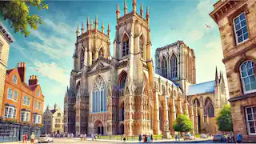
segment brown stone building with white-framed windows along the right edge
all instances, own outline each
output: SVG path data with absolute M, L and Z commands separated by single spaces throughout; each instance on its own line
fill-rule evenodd
M 256 1 L 218 1 L 210 16 L 221 35 L 234 134 L 242 134 L 245 142 L 255 142 Z

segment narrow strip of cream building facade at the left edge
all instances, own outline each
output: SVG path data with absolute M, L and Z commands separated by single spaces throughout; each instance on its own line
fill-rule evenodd
M 2 98 L 6 80 L 6 66 L 9 58 L 10 43 L 14 42 L 8 30 L 0 22 L 0 115 L 2 111 Z

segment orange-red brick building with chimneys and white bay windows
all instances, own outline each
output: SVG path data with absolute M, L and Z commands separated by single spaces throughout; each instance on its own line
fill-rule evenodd
M 2 102 L 2 118 L 13 119 L 31 125 L 42 124 L 44 95 L 37 76 L 30 76 L 26 84 L 26 63 L 6 70 Z

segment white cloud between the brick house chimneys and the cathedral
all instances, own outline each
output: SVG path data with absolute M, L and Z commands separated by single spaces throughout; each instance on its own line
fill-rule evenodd
M 62 67 L 58 67 L 55 62 L 34 62 L 35 67 L 30 67 L 30 69 L 38 69 L 38 73 L 42 74 L 42 77 L 50 78 L 55 82 L 60 83 L 62 86 L 66 86 L 69 82 L 69 73 Z

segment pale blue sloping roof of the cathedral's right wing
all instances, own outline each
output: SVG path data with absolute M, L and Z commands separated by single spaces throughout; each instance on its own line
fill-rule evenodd
M 215 81 L 202 82 L 202 83 L 190 85 L 186 90 L 186 95 L 214 93 L 214 86 L 215 86 Z

